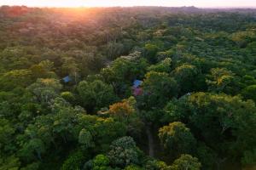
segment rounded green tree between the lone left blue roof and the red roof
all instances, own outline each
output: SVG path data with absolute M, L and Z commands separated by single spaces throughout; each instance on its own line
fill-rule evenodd
M 78 92 L 81 104 L 88 111 L 97 111 L 116 100 L 113 87 L 100 80 L 79 82 Z

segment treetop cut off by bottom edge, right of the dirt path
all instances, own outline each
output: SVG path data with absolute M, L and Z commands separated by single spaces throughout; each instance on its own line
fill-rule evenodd
M 201 163 L 196 157 L 190 155 L 181 155 L 175 160 L 171 167 L 167 167 L 170 170 L 200 170 Z

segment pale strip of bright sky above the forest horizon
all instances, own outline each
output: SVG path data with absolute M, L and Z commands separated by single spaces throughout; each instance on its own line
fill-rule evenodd
M 30 7 L 195 6 L 256 8 L 256 0 L 0 0 L 0 5 Z

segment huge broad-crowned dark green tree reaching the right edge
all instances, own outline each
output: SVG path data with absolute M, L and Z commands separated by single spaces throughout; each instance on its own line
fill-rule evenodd
M 256 140 L 252 130 L 256 107 L 252 100 L 243 101 L 226 94 L 196 93 L 191 94 L 187 102 L 189 127 L 213 150 L 223 155 L 231 152 L 230 155 L 240 159 L 245 150 L 252 149 Z

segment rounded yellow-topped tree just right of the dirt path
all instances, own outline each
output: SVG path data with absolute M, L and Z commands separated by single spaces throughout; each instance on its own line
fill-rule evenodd
M 159 130 L 161 144 L 172 156 L 193 153 L 196 139 L 182 122 L 172 122 Z

